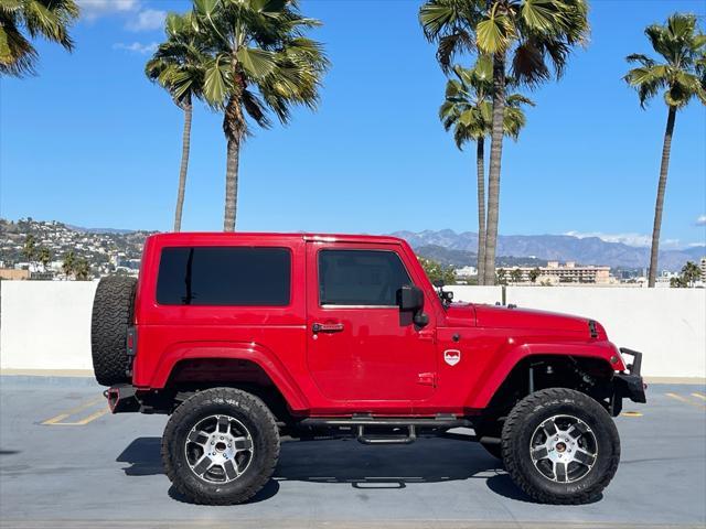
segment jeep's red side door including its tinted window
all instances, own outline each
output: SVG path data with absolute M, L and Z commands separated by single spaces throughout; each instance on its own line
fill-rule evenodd
M 307 244 L 307 355 L 331 400 L 425 400 L 436 380 L 435 322 L 416 327 L 397 290 L 414 283 L 389 245 Z

